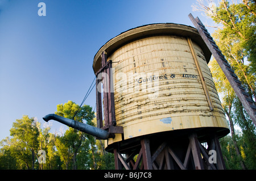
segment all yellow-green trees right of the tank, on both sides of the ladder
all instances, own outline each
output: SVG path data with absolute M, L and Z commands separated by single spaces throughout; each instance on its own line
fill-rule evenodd
M 212 35 L 214 41 L 255 101 L 255 1 L 231 3 L 221 0 L 216 5 L 212 1 L 197 0 L 193 9 L 205 12 L 216 23 L 217 30 Z M 255 125 L 214 58 L 209 66 L 230 125 L 231 135 L 221 140 L 226 166 L 228 169 L 256 169 Z M 236 126 L 240 129 L 236 130 Z

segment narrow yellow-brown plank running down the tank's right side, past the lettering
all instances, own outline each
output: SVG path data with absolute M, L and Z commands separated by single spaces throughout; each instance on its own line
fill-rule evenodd
M 202 71 L 201 71 L 199 62 L 198 62 L 198 60 L 197 60 L 196 52 L 195 52 L 195 49 L 194 49 L 194 47 L 193 47 L 193 43 L 192 43 L 192 41 L 191 41 L 191 39 L 190 39 L 189 37 L 187 38 L 187 41 L 188 41 L 188 45 L 189 45 L 189 48 L 190 48 L 191 53 L 192 53 L 192 56 L 193 56 L 193 60 L 195 61 L 195 64 L 196 64 L 196 69 L 197 69 L 197 71 L 198 71 L 198 73 L 199 73 L 199 77 L 200 77 L 200 79 L 201 79 L 201 83 L 202 83 L 202 85 L 203 85 L 204 93 L 205 93 L 205 96 L 206 96 L 206 98 L 207 98 L 207 102 L 208 102 L 208 104 L 209 104 L 209 108 L 210 108 L 211 111 L 213 111 L 212 99 L 210 99 L 209 91 L 208 91 L 207 85 L 206 85 L 206 83 L 205 83 L 205 81 L 204 81 L 203 73 L 202 73 Z

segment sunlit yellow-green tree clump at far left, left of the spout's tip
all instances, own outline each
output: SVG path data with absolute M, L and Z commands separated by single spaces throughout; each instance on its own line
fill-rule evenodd
M 28 116 L 16 120 L 11 136 L 0 142 L 0 169 L 59 169 L 60 158 L 49 130 Z M 39 150 L 46 151 L 46 163 L 39 163 Z

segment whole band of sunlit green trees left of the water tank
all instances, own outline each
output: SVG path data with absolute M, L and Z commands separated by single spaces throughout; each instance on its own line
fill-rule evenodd
M 92 107 L 79 109 L 71 100 L 57 105 L 55 113 L 93 126 L 96 123 Z M 17 119 L 10 137 L 0 142 L 0 169 L 114 169 L 113 154 L 105 151 L 103 141 L 73 128 L 62 135 L 50 129 L 48 124 L 42 129 L 33 117 Z M 46 153 L 45 163 L 39 160 L 39 150 Z

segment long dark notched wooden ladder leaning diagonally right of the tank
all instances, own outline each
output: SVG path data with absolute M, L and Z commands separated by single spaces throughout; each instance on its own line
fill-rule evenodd
M 243 107 L 245 108 L 254 125 L 256 126 L 256 106 L 253 99 L 251 99 L 245 88 L 241 85 L 241 81 L 238 80 L 238 77 L 234 73 L 234 70 L 231 68 L 224 55 L 221 53 L 221 50 L 216 45 L 212 36 L 210 36 L 210 33 L 207 31 L 201 20 L 198 17 L 196 17 L 195 19 L 192 14 L 189 14 L 188 16 L 196 27 L 200 36 L 203 38 L 205 44 L 207 44 L 210 52 L 212 52 L 214 58 L 218 62 L 218 65 L 220 65 L 221 70 L 226 75 L 226 78 L 228 78 L 230 85 L 233 87 Z

